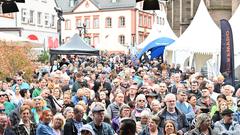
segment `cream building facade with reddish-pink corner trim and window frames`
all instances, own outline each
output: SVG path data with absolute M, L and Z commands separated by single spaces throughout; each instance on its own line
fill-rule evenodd
M 66 41 L 79 33 L 92 46 L 104 45 L 110 38 L 123 46 L 140 44 L 149 35 L 156 20 L 153 11 L 142 10 L 143 2 L 69 0 L 63 3 L 57 0 L 57 3 L 64 11 L 62 39 Z

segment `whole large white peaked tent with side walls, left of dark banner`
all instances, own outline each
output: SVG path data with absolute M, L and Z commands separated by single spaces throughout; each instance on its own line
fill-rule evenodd
M 221 33 L 201 0 L 197 12 L 186 31 L 165 49 L 165 59 L 181 66 L 194 66 L 200 71 L 206 61 L 215 58 L 221 47 Z M 171 55 L 171 56 L 169 56 Z M 218 65 L 218 60 L 215 60 Z M 214 67 L 218 71 L 218 66 Z

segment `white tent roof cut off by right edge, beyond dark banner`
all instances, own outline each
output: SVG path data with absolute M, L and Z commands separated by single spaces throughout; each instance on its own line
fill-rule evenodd
M 229 20 L 229 23 L 232 27 L 232 33 L 233 33 L 233 44 L 234 44 L 234 51 L 235 53 L 240 53 L 240 5 L 238 6 L 237 10 Z

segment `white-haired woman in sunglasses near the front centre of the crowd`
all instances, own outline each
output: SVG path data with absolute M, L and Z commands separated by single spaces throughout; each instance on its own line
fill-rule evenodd
M 139 94 L 136 97 L 136 105 L 135 109 L 132 111 L 132 118 L 136 121 L 140 121 L 141 119 L 141 112 L 143 110 L 148 110 L 150 112 L 150 109 L 147 108 L 147 100 L 144 94 Z

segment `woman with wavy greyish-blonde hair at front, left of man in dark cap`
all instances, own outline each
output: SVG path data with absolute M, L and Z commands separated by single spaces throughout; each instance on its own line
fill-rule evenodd
M 210 115 L 207 113 L 199 114 L 195 128 L 188 132 L 187 135 L 213 135 Z

